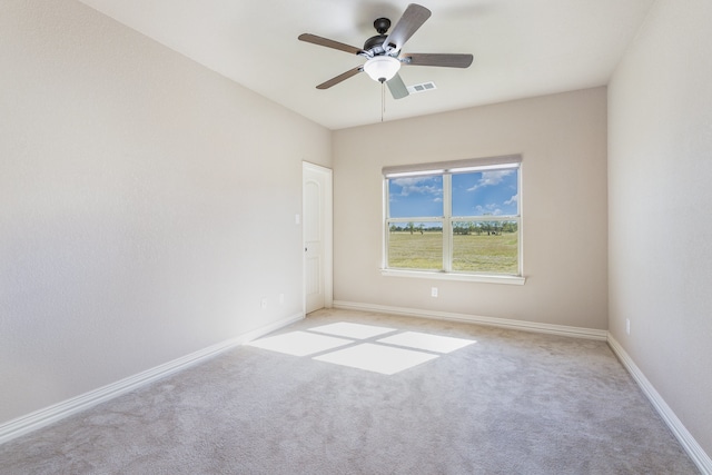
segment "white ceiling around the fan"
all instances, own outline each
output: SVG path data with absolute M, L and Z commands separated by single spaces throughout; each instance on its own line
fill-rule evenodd
M 119 22 L 332 130 L 379 122 L 382 86 L 344 51 L 298 41 L 314 33 L 355 47 L 396 24 L 405 0 L 80 0 Z M 467 69 L 404 66 L 407 86 L 383 120 L 606 85 L 654 0 L 418 0 L 433 14 L 404 52 L 472 53 Z M 392 27 L 393 29 L 393 27 Z

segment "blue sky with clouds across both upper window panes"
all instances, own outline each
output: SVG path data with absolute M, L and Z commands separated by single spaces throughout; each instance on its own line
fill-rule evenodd
M 453 216 L 517 214 L 516 169 L 452 176 Z M 393 178 L 388 184 L 389 217 L 442 217 L 443 177 Z

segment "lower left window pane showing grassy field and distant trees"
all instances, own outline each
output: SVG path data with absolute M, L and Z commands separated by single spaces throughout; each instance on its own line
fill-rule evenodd
M 393 222 L 388 232 L 388 267 L 442 270 L 441 222 Z

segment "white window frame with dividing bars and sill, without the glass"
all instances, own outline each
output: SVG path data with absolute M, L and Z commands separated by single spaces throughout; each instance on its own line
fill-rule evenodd
M 467 172 L 482 172 L 503 169 L 517 170 L 517 214 L 515 216 L 453 216 L 452 215 L 452 177 L 453 175 Z M 415 277 L 442 280 L 465 280 L 493 284 L 523 285 L 523 229 L 522 229 L 522 169 L 523 160 L 520 155 L 488 157 L 468 160 L 445 162 L 418 164 L 409 166 L 396 166 L 383 168 L 383 260 L 380 273 L 384 276 Z M 439 176 L 443 179 L 443 216 L 389 218 L 389 180 L 405 177 L 432 177 Z M 517 224 L 517 274 L 473 273 L 453 270 L 453 224 L 476 221 L 515 221 Z M 390 225 L 399 222 L 438 222 L 443 228 L 443 264 L 437 270 L 389 268 L 388 250 L 390 238 Z

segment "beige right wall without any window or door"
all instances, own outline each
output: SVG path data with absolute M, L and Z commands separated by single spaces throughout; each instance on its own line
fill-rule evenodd
M 609 98 L 610 330 L 708 454 L 711 58 L 712 2 L 660 0 Z

